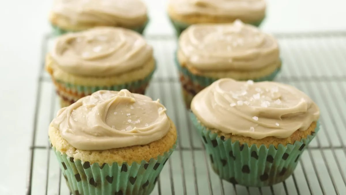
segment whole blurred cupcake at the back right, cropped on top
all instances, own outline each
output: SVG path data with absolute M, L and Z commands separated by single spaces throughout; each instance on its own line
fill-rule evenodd
M 265 17 L 264 0 L 170 0 L 168 15 L 177 35 L 192 24 L 231 23 L 236 19 L 259 26 Z

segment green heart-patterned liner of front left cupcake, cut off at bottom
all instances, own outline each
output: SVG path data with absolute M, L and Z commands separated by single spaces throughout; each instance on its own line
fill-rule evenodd
M 98 164 L 82 162 L 60 153 L 53 146 L 67 186 L 74 195 L 148 195 L 174 151 L 176 144 L 163 155 L 140 164 L 133 162 Z

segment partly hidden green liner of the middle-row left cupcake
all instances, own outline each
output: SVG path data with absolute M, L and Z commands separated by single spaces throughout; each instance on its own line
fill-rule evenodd
M 93 92 L 99 91 L 99 90 L 111 90 L 111 91 L 120 91 L 122 89 L 128 89 L 129 91 L 133 92 L 136 91 L 136 89 L 143 88 L 143 86 L 147 86 L 149 84 L 149 81 L 153 77 L 153 74 L 155 72 L 155 69 L 145 78 L 136 80 L 129 83 L 124 83 L 121 85 L 110 85 L 110 86 L 84 86 L 84 85 L 75 85 L 73 83 L 65 83 L 60 80 L 55 80 L 55 82 L 62 86 L 66 91 L 76 93 L 76 94 L 91 94 Z M 53 78 L 54 79 L 54 78 Z

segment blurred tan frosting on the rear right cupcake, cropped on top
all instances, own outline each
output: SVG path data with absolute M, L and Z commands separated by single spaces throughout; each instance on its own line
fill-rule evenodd
M 170 0 L 169 6 L 181 15 L 263 18 L 264 0 Z

